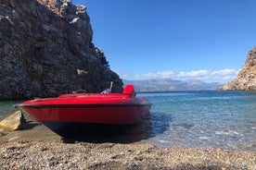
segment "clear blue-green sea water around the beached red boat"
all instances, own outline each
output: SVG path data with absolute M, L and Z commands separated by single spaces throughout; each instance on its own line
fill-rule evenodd
M 143 123 L 147 125 L 136 126 L 130 133 L 147 136 L 148 142 L 160 148 L 178 145 L 256 151 L 256 92 L 171 91 L 137 95 L 145 96 L 153 105 L 149 120 Z M 17 102 L 0 103 L 0 119 L 14 110 L 14 103 Z

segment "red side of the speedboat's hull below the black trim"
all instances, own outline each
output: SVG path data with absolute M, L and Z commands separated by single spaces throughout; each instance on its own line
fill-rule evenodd
M 134 124 L 149 114 L 150 104 L 52 104 L 24 105 L 36 121 L 96 124 Z

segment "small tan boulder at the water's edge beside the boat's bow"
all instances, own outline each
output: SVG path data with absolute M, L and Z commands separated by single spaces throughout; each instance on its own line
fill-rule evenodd
M 0 122 L 0 131 L 14 131 L 26 128 L 26 119 L 20 111 L 7 116 Z

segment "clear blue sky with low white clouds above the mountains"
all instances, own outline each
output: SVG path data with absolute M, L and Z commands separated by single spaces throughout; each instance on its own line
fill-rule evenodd
M 73 0 L 122 79 L 234 79 L 256 46 L 255 0 Z

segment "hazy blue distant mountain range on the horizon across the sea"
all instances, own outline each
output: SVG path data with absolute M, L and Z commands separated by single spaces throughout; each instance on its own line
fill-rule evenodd
M 174 80 L 174 79 L 143 79 L 125 80 L 123 84 L 133 84 L 135 91 L 203 91 L 216 90 L 223 86 L 219 82 L 204 82 L 201 80 Z

